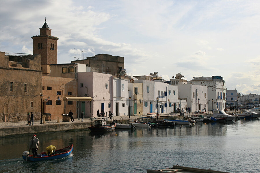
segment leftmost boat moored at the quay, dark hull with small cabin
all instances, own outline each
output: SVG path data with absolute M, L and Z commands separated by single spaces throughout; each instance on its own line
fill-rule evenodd
M 106 124 L 106 117 L 94 117 L 90 118 L 91 122 L 94 119 L 94 125 L 88 127 L 92 132 L 102 132 L 102 131 L 113 131 L 116 128 L 116 122 L 112 122 L 110 124 Z

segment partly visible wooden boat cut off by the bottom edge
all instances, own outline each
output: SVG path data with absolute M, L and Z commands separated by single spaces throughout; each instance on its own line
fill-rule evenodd
M 172 166 L 172 168 L 165 168 L 160 170 L 147 170 L 147 173 L 172 173 L 172 172 L 179 172 L 179 173 L 229 173 L 229 172 L 222 172 L 222 171 L 213 171 L 211 169 L 199 169 L 199 168 L 190 168 L 190 167 L 184 167 L 175 165 Z

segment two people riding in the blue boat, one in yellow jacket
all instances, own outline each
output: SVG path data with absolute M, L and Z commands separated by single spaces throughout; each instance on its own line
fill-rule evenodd
M 37 157 L 38 148 L 39 148 L 39 139 L 36 137 L 36 135 L 33 135 L 33 137 L 31 138 L 30 144 L 29 144 L 29 152 L 31 150 L 31 152 L 33 153 L 33 156 Z M 55 146 L 50 145 L 50 146 L 47 146 L 45 149 L 46 149 L 46 155 L 50 156 L 50 155 L 55 154 L 55 150 L 56 150 Z

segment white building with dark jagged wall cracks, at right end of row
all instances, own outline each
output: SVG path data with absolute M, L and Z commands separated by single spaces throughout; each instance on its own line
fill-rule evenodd
M 190 83 L 208 88 L 208 110 L 226 108 L 226 87 L 221 76 L 194 77 Z M 212 101 L 213 100 L 213 101 Z M 213 106 L 213 108 L 212 108 Z

